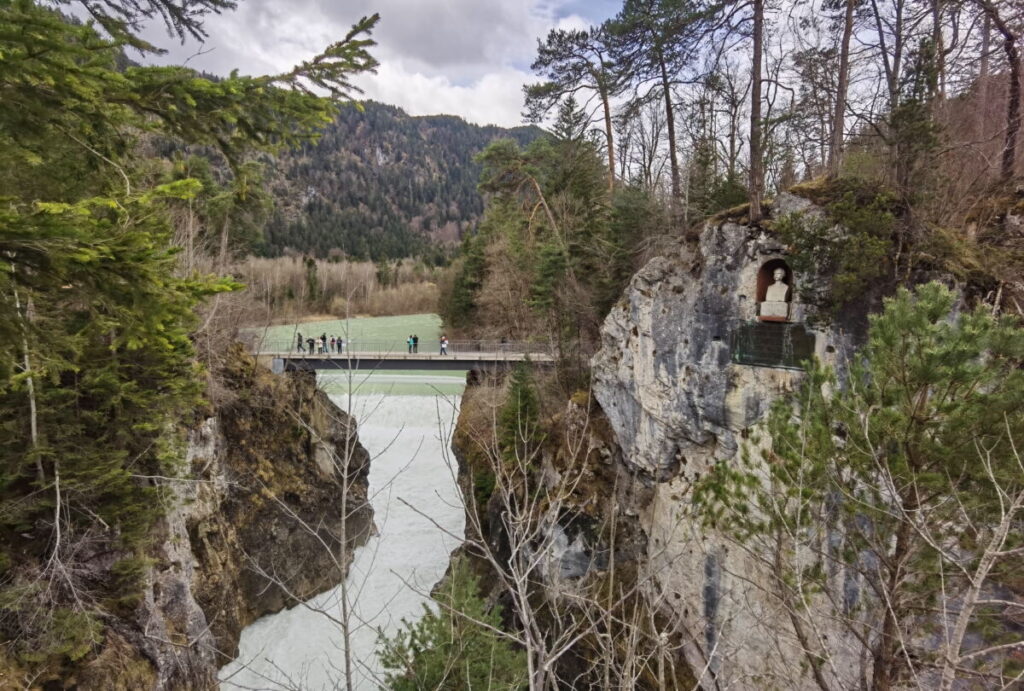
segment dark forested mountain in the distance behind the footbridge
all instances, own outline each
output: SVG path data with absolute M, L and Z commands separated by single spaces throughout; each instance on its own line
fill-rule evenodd
M 378 260 L 457 241 L 483 212 L 473 157 L 495 139 L 526 144 L 540 133 L 412 117 L 374 101 L 344 107 L 318 142 L 279 159 L 263 252 Z

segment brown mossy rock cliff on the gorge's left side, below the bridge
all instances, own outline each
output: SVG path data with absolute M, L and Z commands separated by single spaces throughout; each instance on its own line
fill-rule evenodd
M 341 581 L 373 530 L 354 422 L 311 375 L 229 360 L 220 402 L 187 432 L 142 601 L 80 688 L 216 688 L 241 631 Z

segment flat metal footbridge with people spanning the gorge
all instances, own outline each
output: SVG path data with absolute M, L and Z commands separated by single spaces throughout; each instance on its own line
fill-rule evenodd
M 258 357 L 271 360 L 274 372 L 294 370 L 494 370 L 517 362 L 549 365 L 552 348 L 543 343 L 450 341 L 441 353 L 436 343 L 420 342 L 416 352 L 401 341 L 345 341 L 338 348 L 296 347 L 295 341 L 253 344 Z

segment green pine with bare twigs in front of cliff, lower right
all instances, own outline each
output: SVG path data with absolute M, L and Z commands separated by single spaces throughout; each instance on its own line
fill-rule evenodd
M 871 688 L 916 665 L 995 683 L 1013 648 L 978 652 L 1007 634 L 981 593 L 1024 568 L 1024 330 L 931 283 L 888 299 L 845 364 L 812 365 L 767 438 L 699 483 L 698 511 L 763 560 L 798 637 L 826 611 L 861 640 Z M 824 678 L 840 644 L 811 638 Z

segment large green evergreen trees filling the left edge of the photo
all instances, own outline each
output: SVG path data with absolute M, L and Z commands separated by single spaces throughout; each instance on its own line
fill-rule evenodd
M 315 138 L 336 103 L 310 89 L 344 98 L 375 64 L 368 17 L 283 75 L 126 66 L 126 46 L 152 49 L 143 20 L 197 36 L 232 5 L 87 3 L 100 33 L 0 3 L 0 628 L 4 654 L 43 679 L 137 601 L 164 510 L 155 478 L 178 472 L 178 425 L 201 402 L 195 309 L 239 287 L 179 264 L 173 213 L 197 212 L 191 240 L 229 246 L 260 206 L 252 153 Z M 155 172 L 143 136 L 215 152 L 224 182 L 195 160 Z

